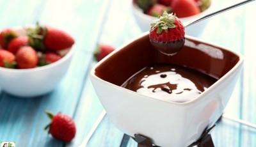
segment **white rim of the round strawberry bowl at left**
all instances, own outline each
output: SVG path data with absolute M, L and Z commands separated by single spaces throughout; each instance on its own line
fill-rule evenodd
M 12 27 L 12 29 L 14 31 L 17 31 L 17 33 L 19 34 L 19 31 L 24 30 L 24 28 L 26 27 L 33 27 L 35 25 L 30 25 L 30 26 L 24 26 L 24 27 Z M 21 35 L 22 36 L 22 35 Z M 49 65 L 44 65 L 44 66 L 38 66 L 35 68 L 26 68 L 26 69 L 19 69 L 19 68 L 4 68 L 4 67 L 0 67 L 0 72 L 35 72 L 38 70 L 45 70 L 47 68 L 51 68 L 52 66 L 58 66 L 61 63 L 63 63 L 64 61 L 66 61 L 68 58 L 70 58 L 70 56 L 72 56 L 74 54 L 74 45 L 72 45 L 72 47 L 69 47 L 67 49 L 63 49 L 63 50 L 68 50 L 67 54 L 65 54 L 61 59 L 59 59 L 58 61 L 51 63 Z M 60 50 L 61 51 L 61 50 Z

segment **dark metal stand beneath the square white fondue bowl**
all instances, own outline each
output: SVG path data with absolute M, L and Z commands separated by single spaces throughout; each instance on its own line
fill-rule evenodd
M 211 128 L 208 128 L 205 130 L 205 132 L 201 135 L 200 139 L 196 141 L 195 143 L 189 145 L 188 147 L 192 146 L 198 146 L 198 147 L 214 147 L 214 143 L 212 141 L 211 137 L 211 130 L 214 128 L 215 125 L 213 125 Z M 134 140 L 138 143 L 138 147 L 157 147 L 156 145 L 152 144 L 150 138 L 145 137 L 140 134 L 134 134 Z

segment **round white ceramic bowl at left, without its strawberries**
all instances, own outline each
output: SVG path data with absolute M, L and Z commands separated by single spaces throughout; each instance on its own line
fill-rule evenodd
M 20 36 L 25 29 L 15 28 Z M 74 48 L 65 49 L 67 54 L 55 63 L 29 69 L 10 69 L 0 67 L 0 88 L 11 95 L 33 98 L 49 93 L 60 83 L 68 70 Z M 65 52 L 63 50 L 63 52 Z

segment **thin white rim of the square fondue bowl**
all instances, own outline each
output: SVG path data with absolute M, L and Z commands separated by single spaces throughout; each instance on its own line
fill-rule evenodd
M 227 79 L 227 77 L 232 74 L 234 72 L 234 70 L 237 69 L 237 66 L 243 66 L 243 62 L 244 62 L 244 58 L 241 54 L 239 54 L 239 52 L 234 52 L 231 49 L 227 49 L 227 47 L 223 47 L 220 45 L 216 45 L 210 42 L 207 42 L 205 40 L 202 40 L 200 38 L 196 38 L 193 36 L 188 36 L 186 35 L 186 38 L 190 38 L 192 40 L 198 41 L 198 42 L 202 42 L 202 43 L 206 43 L 209 45 L 212 45 L 214 47 L 218 47 L 224 50 L 228 50 L 229 52 L 232 52 L 234 54 L 236 54 L 239 57 L 239 61 L 236 63 L 236 65 L 230 69 L 225 75 L 223 75 L 223 77 L 221 77 L 220 79 L 218 79 L 216 82 L 214 82 L 214 84 L 212 84 L 207 90 L 203 91 L 198 97 L 194 98 L 193 100 L 189 100 L 188 102 L 172 102 L 172 101 L 168 101 L 168 100 L 161 100 L 159 98 L 154 98 L 154 97 L 148 97 L 147 95 L 142 95 L 140 93 L 137 93 L 136 91 L 131 91 L 129 89 L 125 89 L 122 88 L 121 86 L 117 86 L 111 82 L 108 81 L 104 81 L 103 79 L 100 79 L 99 77 L 97 77 L 95 75 L 95 69 L 102 64 L 104 61 L 106 61 L 109 57 L 111 57 L 113 54 L 116 54 L 116 52 L 118 52 L 118 50 L 124 49 L 125 46 L 129 45 L 131 42 L 134 42 L 135 40 L 138 40 L 139 38 L 143 37 L 143 36 L 147 36 L 149 33 L 149 31 L 142 33 L 141 35 L 139 35 L 138 37 L 132 39 L 130 42 L 125 43 L 124 45 L 122 45 L 121 47 L 119 47 L 118 49 L 115 49 L 113 52 L 111 52 L 110 54 L 108 54 L 108 56 L 106 56 L 105 58 L 103 58 L 102 60 L 100 60 L 91 70 L 90 72 L 90 76 L 93 77 L 94 79 L 96 79 L 97 81 L 100 82 L 107 82 L 108 84 L 110 84 L 111 86 L 114 86 L 115 88 L 121 89 L 122 91 L 128 91 L 129 93 L 134 93 L 135 95 L 140 95 L 141 97 L 145 97 L 145 98 L 150 98 L 151 100 L 157 100 L 157 101 L 161 101 L 161 102 L 165 102 L 166 104 L 175 104 L 175 105 L 191 105 L 191 104 L 195 104 L 196 102 L 198 102 L 199 100 L 201 100 L 202 98 L 204 98 L 205 95 L 207 95 L 207 93 L 209 93 L 210 91 L 212 91 L 213 89 L 215 89 L 216 87 L 218 87 L 218 85 L 223 82 L 225 79 Z

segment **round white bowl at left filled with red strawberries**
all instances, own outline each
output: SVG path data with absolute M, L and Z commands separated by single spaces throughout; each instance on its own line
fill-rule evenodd
M 68 70 L 74 38 L 53 27 L 3 29 L 0 33 L 0 88 L 31 98 L 52 91 Z

